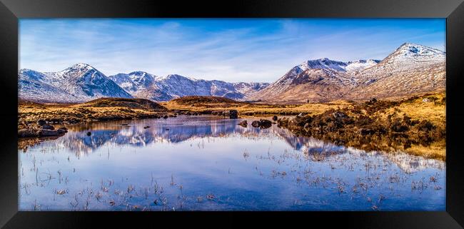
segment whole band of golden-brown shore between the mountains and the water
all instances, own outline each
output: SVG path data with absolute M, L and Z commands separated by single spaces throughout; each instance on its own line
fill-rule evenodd
M 414 96 L 400 101 L 373 99 L 364 103 L 345 101 L 300 106 L 168 102 L 161 103 L 158 110 L 155 110 L 133 104 L 130 104 L 132 107 L 127 104 L 116 105 L 50 106 L 19 103 L 18 130 L 28 128 L 39 131 L 41 125 L 37 124 L 38 121 L 45 121 L 46 125 L 66 126 L 95 121 L 175 118 L 178 115 L 226 117 L 230 111 L 235 110 L 238 116 L 257 120 L 266 116 L 281 116 L 273 121 L 277 121 L 279 127 L 288 128 L 296 136 L 311 136 L 338 146 L 387 153 L 403 151 L 425 158 L 446 159 L 445 93 Z

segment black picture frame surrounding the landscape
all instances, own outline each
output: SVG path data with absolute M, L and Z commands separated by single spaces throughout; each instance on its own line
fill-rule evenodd
M 376 1 L 91 1 L 91 0 L 0 0 L 0 226 L 3 228 L 130 228 L 179 223 L 224 228 L 248 225 L 321 225 L 345 228 L 463 228 L 464 127 L 464 4 L 462 0 Z M 18 211 L 18 155 L 16 138 L 18 19 L 109 18 L 109 17 L 246 17 L 246 18 L 446 18 L 446 211 L 443 212 L 21 212 Z M 179 218 L 182 218 L 179 220 Z M 213 220 L 221 218 L 219 223 Z M 318 223 L 318 224 L 315 224 Z M 322 223 L 322 224 L 320 224 Z

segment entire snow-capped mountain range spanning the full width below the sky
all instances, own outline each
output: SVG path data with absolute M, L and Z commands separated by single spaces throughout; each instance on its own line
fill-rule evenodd
M 21 69 L 19 98 L 74 103 L 101 97 L 169 101 L 182 96 L 221 96 L 234 100 L 302 103 L 408 96 L 445 88 L 445 52 L 405 43 L 383 60 L 308 60 L 273 83 L 228 83 L 143 71 L 105 76 L 77 63 L 63 71 Z

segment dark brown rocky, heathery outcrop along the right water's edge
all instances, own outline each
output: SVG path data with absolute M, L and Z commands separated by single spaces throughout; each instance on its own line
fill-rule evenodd
M 396 112 L 387 113 L 399 104 L 373 99 L 352 108 L 332 109 L 318 115 L 278 118 L 277 123 L 301 136 L 313 136 L 365 151 L 406 150 L 412 145 L 427 147 L 445 139 L 443 126 L 435 126 L 427 120 L 413 120 Z M 252 123 L 253 126 L 258 124 L 257 121 Z

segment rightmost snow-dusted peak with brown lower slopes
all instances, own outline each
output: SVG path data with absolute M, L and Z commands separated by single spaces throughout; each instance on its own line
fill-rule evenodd
M 405 96 L 445 89 L 446 54 L 418 44 L 405 43 L 375 66 L 355 74 L 358 85 L 350 97 Z

